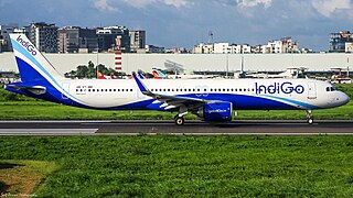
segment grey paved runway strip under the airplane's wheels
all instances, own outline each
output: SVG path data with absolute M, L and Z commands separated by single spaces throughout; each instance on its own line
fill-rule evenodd
M 353 135 L 353 121 L 0 121 L 0 135 Z

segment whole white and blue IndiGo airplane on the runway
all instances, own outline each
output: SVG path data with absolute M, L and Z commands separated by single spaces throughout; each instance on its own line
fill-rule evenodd
M 6 90 L 87 109 L 193 113 L 206 122 L 232 121 L 234 110 L 312 110 L 343 106 L 350 97 L 315 79 L 69 79 L 64 78 L 24 34 L 10 34 L 21 81 Z

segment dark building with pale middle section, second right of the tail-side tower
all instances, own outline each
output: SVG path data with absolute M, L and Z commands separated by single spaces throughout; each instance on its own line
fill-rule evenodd
M 96 30 L 98 47 L 103 52 L 130 52 L 129 30 L 125 26 L 106 26 Z M 145 48 L 145 45 L 143 47 Z

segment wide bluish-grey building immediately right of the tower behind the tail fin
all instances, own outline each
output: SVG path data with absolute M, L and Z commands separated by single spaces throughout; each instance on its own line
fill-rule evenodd
M 92 53 L 98 50 L 96 30 L 65 26 L 58 30 L 60 53 Z

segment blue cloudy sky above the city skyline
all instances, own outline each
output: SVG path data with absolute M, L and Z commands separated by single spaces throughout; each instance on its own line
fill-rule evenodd
M 0 0 L 0 24 L 124 25 L 147 44 L 186 47 L 208 41 L 267 44 L 291 36 L 328 51 L 330 33 L 353 31 L 353 0 Z

